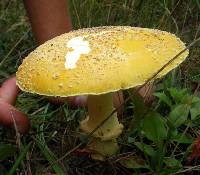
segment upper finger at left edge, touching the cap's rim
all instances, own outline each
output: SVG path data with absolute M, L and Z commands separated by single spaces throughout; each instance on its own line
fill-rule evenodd
M 19 88 L 16 85 L 16 78 L 12 77 L 6 80 L 0 88 L 0 98 L 9 104 L 14 105 Z

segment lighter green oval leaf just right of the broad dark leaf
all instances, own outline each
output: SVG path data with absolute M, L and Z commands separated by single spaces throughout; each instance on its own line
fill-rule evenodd
M 175 126 L 179 127 L 185 123 L 188 118 L 190 106 L 187 104 L 177 105 L 169 114 L 169 121 Z

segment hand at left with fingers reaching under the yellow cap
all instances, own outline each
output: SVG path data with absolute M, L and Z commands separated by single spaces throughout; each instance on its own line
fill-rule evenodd
M 15 101 L 19 93 L 16 85 L 16 78 L 6 80 L 0 87 L 0 125 L 15 128 L 19 133 L 26 133 L 30 124 L 28 118 L 15 107 Z M 52 103 L 63 104 L 68 101 L 71 106 L 85 106 L 86 96 L 66 98 L 52 98 Z

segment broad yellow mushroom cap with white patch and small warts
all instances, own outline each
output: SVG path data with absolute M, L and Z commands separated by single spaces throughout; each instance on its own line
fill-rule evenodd
M 31 52 L 17 71 L 17 84 L 47 96 L 102 94 L 143 84 L 185 48 L 175 35 L 115 26 L 72 31 Z M 188 50 L 158 77 L 179 65 Z

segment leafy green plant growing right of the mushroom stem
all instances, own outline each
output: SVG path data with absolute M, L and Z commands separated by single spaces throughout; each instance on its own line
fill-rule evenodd
M 198 137 L 195 127 L 199 125 L 200 98 L 187 89 L 176 88 L 167 88 L 154 96 L 158 99 L 156 108 L 144 111 L 142 107 L 134 114 L 137 125 L 131 127 L 128 143 L 135 147 L 136 156 L 123 161 L 123 165 L 137 173 L 181 172 L 186 163 L 191 163 L 191 145 Z M 136 98 L 134 107 L 144 106 L 142 98 L 133 94 L 133 100 Z M 199 152 L 194 150 L 192 158 L 198 156 Z

